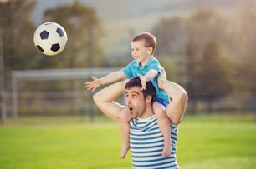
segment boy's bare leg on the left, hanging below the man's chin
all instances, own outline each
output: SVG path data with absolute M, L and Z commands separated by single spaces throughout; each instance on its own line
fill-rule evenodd
M 120 112 L 120 130 L 122 135 L 122 150 L 120 158 L 125 158 L 126 153 L 130 148 L 130 125 L 129 122 L 131 120 L 131 114 L 127 110 L 127 107 Z

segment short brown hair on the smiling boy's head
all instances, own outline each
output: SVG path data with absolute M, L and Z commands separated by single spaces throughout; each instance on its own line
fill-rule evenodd
M 136 35 L 132 38 L 131 42 L 137 42 L 137 41 L 144 41 L 145 47 L 152 47 L 152 53 L 153 55 L 156 51 L 156 37 L 152 35 L 150 32 L 141 32 L 140 34 Z

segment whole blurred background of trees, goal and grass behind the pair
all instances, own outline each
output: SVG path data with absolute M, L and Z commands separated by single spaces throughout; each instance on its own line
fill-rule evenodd
M 67 32 L 58 56 L 34 47 L 43 22 Z M 131 62 L 139 32 L 189 96 L 180 166 L 255 168 L 255 27 L 255 0 L 0 0 L 0 168 L 131 168 L 84 82 Z

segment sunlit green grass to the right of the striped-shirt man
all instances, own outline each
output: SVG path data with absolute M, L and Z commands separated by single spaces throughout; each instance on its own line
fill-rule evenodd
M 255 168 L 256 125 L 252 119 L 242 116 L 187 119 L 179 128 L 178 159 L 182 168 Z

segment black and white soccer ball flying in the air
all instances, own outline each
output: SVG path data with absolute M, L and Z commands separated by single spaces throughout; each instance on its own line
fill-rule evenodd
M 68 40 L 63 27 L 55 22 L 41 24 L 33 34 L 33 42 L 39 52 L 54 56 L 64 50 Z

